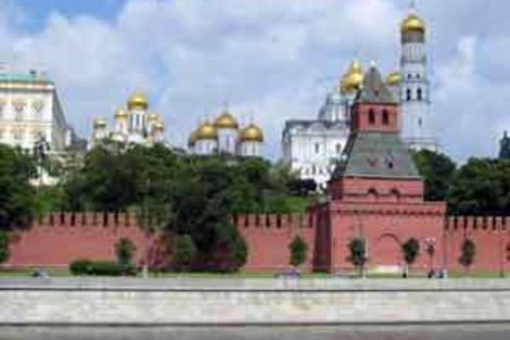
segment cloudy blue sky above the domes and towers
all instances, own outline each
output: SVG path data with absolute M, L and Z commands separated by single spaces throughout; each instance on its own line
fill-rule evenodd
M 226 100 L 280 155 L 285 119 L 313 118 L 357 55 L 398 65 L 406 0 L 4 0 L 0 61 L 41 68 L 82 136 L 133 90 L 184 146 Z M 493 156 L 510 130 L 510 2 L 417 1 L 428 22 L 433 124 L 458 161 Z

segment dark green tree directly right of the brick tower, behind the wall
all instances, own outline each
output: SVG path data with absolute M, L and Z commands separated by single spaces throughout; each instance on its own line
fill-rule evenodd
M 456 164 L 443 153 L 421 150 L 412 154 L 415 164 L 425 182 L 425 200 L 445 201 Z

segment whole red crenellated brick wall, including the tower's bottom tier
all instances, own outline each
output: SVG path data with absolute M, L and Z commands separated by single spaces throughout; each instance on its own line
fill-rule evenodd
M 335 215 L 340 216 L 340 212 Z M 401 269 L 400 243 L 409 236 L 421 241 L 421 254 L 415 269 L 426 272 L 429 266 L 461 272 L 458 259 L 466 238 L 476 244 L 472 272 L 510 270 L 510 217 L 450 216 L 423 211 L 409 217 L 411 224 L 395 225 L 395 216 L 406 216 L 401 207 L 388 204 L 380 212 L 358 212 L 353 225 L 343 236 L 332 239 L 334 226 L 329 225 L 328 211 L 317 207 L 308 214 L 240 215 L 233 222 L 248 247 L 244 272 L 278 273 L 289 270 L 289 244 L 295 236 L 307 243 L 307 262 L 303 270 L 350 270 L 345 260 L 347 243 L 353 235 L 364 235 L 368 244 L 369 267 L 378 272 Z M 357 219 L 357 223 L 354 223 Z M 423 221 L 433 219 L 439 226 L 428 232 Z M 392 225 L 392 227 L 387 227 Z M 385 226 L 379 228 L 379 226 Z M 358 229 L 359 228 L 359 229 Z M 393 230 L 392 230 L 393 229 Z M 404 231 L 405 230 L 405 231 Z M 137 226 L 135 215 L 55 213 L 44 216 L 24 232 L 11 237 L 11 256 L 7 267 L 66 268 L 76 259 L 114 260 L 115 243 L 123 237 L 136 244 L 135 262 L 141 265 L 148 249 L 152 266 L 162 263 L 156 238 L 145 236 Z M 425 253 L 425 243 L 435 241 L 432 259 Z M 335 254 L 333 256 L 333 253 Z M 332 257 L 334 261 L 332 261 Z

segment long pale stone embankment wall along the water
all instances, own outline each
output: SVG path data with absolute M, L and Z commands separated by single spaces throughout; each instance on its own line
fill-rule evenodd
M 507 280 L 1 279 L 0 326 L 510 322 Z

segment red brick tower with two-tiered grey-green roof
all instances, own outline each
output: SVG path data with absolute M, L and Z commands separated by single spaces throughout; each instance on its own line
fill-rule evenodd
M 367 241 L 368 265 L 399 270 L 400 245 L 413 237 L 442 244 L 444 202 L 423 201 L 423 180 L 399 136 L 398 100 L 375 66 L 370 67 L 353 106 L 352 133 L 329 182 L 331 267 L 349 266 L 347 244 Z M 441 254 L 422 255 L 418 266 L 441 265 Z

